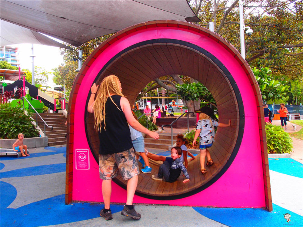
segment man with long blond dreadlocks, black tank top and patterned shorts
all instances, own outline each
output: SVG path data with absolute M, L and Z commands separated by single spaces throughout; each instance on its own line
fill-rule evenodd
M 100 86 L 92 85 L 88 112 L 95 114 L 95 128 L 100 139 L 99 172 L 104 200 L 104 208 L 100 211 L 100 216 L 105 220 L 112 219 L 110 209 L 112 178 L 118 175 L 119 169 L 122 178 L 128 180 L 126 204 L 121 214 L 140 219 L 141 215 L 136 212 L 133 205 L 139 167 L 127 123 L 155 140 L 159 139 L 159 135 L 135 120 L 130 104 L 122 94 L 121 83 L 115 75 L 105 77 Z

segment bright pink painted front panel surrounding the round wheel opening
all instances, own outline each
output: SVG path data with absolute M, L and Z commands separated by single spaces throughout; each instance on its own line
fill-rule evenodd
M 89 89 L 102 67 L 118 52 L 141 41 L 156 38 L 177 38 L 213 54 L 229 70 L 237 83 L 245 110 L 245 130 L 240 149 L 229 169 L 207 189 L 183 199 L 154 200 L 140 196 L 135 203 L 157 203 L 179 206 L 265 207 L 260 136 L 254 92 L 242 67 L 235 58 L 212 39 L 181 28 L 148 28 L 119 39 L 103 51 L 92 63 L 78 90 L 75 109 L 74 149 L 89 149 L 85 139 L 85 101 Z M 78 140 L 77 138 L 83 138 Z M 248 158 L 249 153 L 249 158 Z M 75 153 L 74 153 L 75 154 Z M 75 158 L 75 157 L 74 157 Z M 90 153 L 90 169 L 73 169 L 73 200 L 102 202 L 98 164 Z M 112 183 L 112 202 L 125 202 L 126 190 Z

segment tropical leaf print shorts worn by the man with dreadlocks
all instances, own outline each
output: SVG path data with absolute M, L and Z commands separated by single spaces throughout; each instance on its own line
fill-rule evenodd
M 118 176 L 118 170 L 124 180 L 139 175 L 139 166 L 134 148 L 115 153 L 99 154 L 100 179 L 110 180 Z

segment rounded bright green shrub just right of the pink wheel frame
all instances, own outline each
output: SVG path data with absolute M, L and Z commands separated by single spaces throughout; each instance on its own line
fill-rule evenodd
M 267 153 L 290 153 L 292 140 L 280 126 L 266 124 Z

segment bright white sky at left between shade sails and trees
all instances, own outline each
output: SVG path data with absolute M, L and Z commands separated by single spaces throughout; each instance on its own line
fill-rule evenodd
M 57 40 L 58 41 L 58 40 Z M 21 69 L 32 71 L 32 44 L 15 44 L 18 47 L 19 63 Z M 45 45 L 34 44 L 34 66 L 44 68 L 46 71 L 52 72 L 52 69 L 63 63 L 63 56 L 60 54 L 60 48 Z M 48 75 L 49 87 L 54 87 L 52 80 L 53 74 Z

